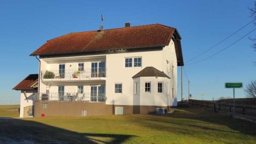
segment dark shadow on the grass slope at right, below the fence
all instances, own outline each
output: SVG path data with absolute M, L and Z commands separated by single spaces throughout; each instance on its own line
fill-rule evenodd
M 136 115 L 129 115 L 129 116 L 132 116 L 138 119 L 149 120 L 152 122 L 160 122 L 159 124 L 166 123 L 166 124 L 180 125 L 185 127 L 194 127 L 194 128 L 202 129 L 205 131 L 211 130 L 216 132 L 228 132 L 230 134 L 241 132 L 243 134 L 256 136 L 256 131 L 255 131 L 256 123 L 248 122 L 245 120 L 239 120 L 239 119 L 233 120 L 233 118 L 230 116 L 219 115 L 211 111 L 205 111 L 204 109 L 191 109 L 191 108 L 181 108 L 181 109 L 183 112 L 178 111 L 177 113 L 171 113 L 166 115 L 152 115 L 152 116 L 145 116 L 145 117 L 136 116 Z M 196 122 L 194 120 L 196 120 Z M 207 124 L 200 124 L 200 122 L 207 122 Z M 207 126 L 209 123 L 214 125 L 225 125 L 229 127 L 231 130 L 222 129 L 221 127 Z M 149 125 L 149 127 L 152 127 L 152 126 L 153 125 Z M 156 127 L 156 129 L 158 128 L 161 129 L 161 127 Z

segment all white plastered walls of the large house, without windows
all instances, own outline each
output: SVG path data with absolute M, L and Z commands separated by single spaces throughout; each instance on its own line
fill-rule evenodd
M 125 58 L 141 58 L 141 67 L 125 67 Z M 40 92 L 45 93 L 49 90 L 50 93 L 58 93 L 58 86 L 65 85 L 65 92 L 77 92 L 77 85 L 84 85 L 84 93 L 90 93 L 90 85 L 93 84 L 106 84 L 106 104 L 116 105 L 145 105 L 145 106 L 177 106 L 177 58 L 175 54 L 175 47 L 171 40 L 170 45 L 163 47 L 159 51 L 133 51 L 128 52 L 125 50 L 109 52 L 103 55 L 90 55 L 90 56 L 76 56 L 67 58 L 41 58 L 40 70 L 57 70 L 59 64 L 65 63 L 66 69 L 78 68 L 78 63 L 84 63 L 84 68 L 91 68 L 91 63 L 95 61 L 106 61 L 106 80 L 95 81 L 49 81 L 43 82 L 42 76 L 40 79 Z M 132 61 L 133 62 L 133 61 Z M 152 99 L 148 99 L 142 90 L 145 86 L 144 79 L 132 79 L 132 76 L 143 70 L 145 67 L 154 67 L 163 71 L 170 79 L 164 78 L 164 95 L 154 93 Z M 172 68 L 173 67 L 173 68 Z M 161 77 L 158 77 L 161 79 Z M 150 81 L 157 81 L 158 79 L 150 79 Z M 140 100 L 134 96 L 134 81 L 140 82 Z M 147 80 L 148 81 L 148 80 Z M 122 93 L 115 93 L 115 83 L 122 83 Z M 168 86 L 165 88 L 165 86 Z M 156 86 L 154 86 L 156 87 Z M 157 87 L 156 87 L 157 88 Z M 173 88 L 173 92 L 172 92 Z M 152 85 L 152 90 L 154 90 Z M 156 89 L 157 90 L 157 89 Z M 173 93 L 173 95 L 172 95 Z M 141 100 L 148 99 L 148 100 Z M 138 102 L 140 101 L 140 102 Z

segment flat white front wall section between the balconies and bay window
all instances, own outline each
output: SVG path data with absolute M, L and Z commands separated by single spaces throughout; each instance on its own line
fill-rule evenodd
M 141 67 L 125 67 L 125 58 L 136 57 L 141 57 Z M 106 96 L 108 99 L 106 104 L 134 105 L 132 76 L 145 67 L 155 67 L 161 70 L 161 63 L 161 51 L 108 54 L 106 56 L 106 66 L 108 67 L 108 79 L 106 80 Z M 115 83 L 122 83 L 122 93 L 114 92 Z

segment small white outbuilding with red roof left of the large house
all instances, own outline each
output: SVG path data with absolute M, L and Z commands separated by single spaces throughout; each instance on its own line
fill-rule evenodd
M 34 115 L 34 102 L 37 96 L 38 74 L 29 74 L 13 90 L 20 90 L 20 118 Z

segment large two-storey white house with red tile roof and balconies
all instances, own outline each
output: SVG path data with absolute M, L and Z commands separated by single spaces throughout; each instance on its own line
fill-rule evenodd
M 180 35 L 161 24 L 69 33 L 39 56 L 35 116 L 156 113 L 177 106 Z

